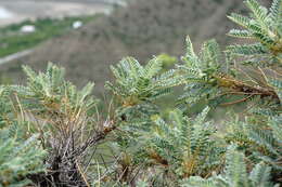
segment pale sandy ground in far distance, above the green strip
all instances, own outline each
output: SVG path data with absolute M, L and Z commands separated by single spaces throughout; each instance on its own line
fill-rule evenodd
M 111 5 L 89 0 L 0 0 L 0 26 L 38 17 L 108 13 Z

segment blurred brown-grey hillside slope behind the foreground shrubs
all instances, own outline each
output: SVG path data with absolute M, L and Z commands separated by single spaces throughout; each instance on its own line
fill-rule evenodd
M 226 32 L 233 25 L 226 15 L 231 12 L 245 12 L 241 0 L 139 0 L 43 43 L 29 56 L 1 66 L 0 71 L 20 81 L 22 64 L 42 69 L 51 61 L 64 66 L 67 78 L 78 85 L 94 81 L 101 93 L 110 77 L 108 65 L 123 56 L 131 55 L 140 62 L 163 52 L 179 56 L 187 35 L 196 48 L 209 38 L 222 45 L 229 43 Z

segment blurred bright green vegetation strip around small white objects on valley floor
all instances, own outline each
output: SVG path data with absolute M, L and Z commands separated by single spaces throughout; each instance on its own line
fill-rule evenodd
M 65 34 L 73 28 L 73 23 L 76 21 L 86 24 L 95 17 L 95 15 L 90 15 L 62 19 L 41 18 L 0 28 L 0 57 L 34 48 L 42 41 Z M 36 30 L 34 32 L 22 32 L 21 28 L 25 25 L 33 25 Z

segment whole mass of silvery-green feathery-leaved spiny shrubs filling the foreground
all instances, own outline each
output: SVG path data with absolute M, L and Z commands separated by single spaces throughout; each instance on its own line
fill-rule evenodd
M 229 35 L 247 44 L 221 52 L 209 40 L 196 53 L 188 37 L 171 69 L 166 56 L 146 65 L 126 57 L 111 67 L 103 108 L 93 83 L 79 90 L 52 64 L 38 74 L 24 67 L 26 85 L 0 88 L 0 186 L 278 187 L 282 0 L 269 10 L 245 4 L 249 16 L 231 14 L 242 29 Z M 164 111 L 159 102 L 176 88 L 182 94 Z M 222 107 L 222 119 L 210 119 Z

